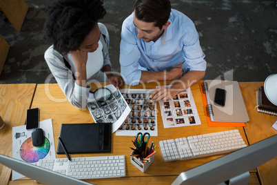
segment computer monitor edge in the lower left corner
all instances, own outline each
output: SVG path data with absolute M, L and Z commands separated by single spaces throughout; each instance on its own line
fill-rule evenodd
M 34 164 L 19 161 L 0 154 L 0 163 L 43 184 L 88 185 L 90 183 L 56 173 Z M 91 185 L 91 184 L 90 184 Z

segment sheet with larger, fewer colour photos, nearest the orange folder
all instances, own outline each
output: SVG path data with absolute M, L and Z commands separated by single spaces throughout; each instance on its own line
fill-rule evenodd
M 164 128 L 201 125 L 190 88 L 179 93 L 172 100 L 158 101 L 158 104 L 160 104 Z

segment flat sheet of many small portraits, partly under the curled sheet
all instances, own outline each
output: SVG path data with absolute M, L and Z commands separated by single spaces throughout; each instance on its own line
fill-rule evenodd
M 131 112 L 116 130 L 116 135 L 132 136 L 140 132 L 158 136 L 156 104 L 150 103 L 150 99 L 147 98 L 153 89 L 121 89 L 120 91 Z

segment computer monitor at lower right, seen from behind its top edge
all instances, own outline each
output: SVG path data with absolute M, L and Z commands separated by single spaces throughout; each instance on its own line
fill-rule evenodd
M 248 184 L 249 171 L 276 156 L 277 135 L 274 135 L 185 171 L 172 184 Z

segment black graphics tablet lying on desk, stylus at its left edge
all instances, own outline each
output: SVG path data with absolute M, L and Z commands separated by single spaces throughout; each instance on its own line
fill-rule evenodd
M 68 153 L 110 153 L 112 124 L 61 124 L 60 135 Z M 57 154 L 64 153 L 60 143 Z

